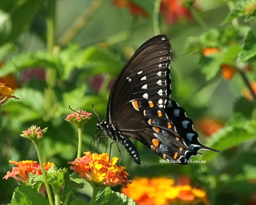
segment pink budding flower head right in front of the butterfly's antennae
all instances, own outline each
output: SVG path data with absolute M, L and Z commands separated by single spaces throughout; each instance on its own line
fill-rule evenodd
M 76 112 L 69 114 L 65 120 L 76 126 L 83 126 L 88 122 L 91 116 L 92 113 L 77 109 Z

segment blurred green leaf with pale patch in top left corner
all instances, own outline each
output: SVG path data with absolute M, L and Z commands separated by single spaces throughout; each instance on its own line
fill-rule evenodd
M 8 0 L 0 3 L 0 45 L 29 29 L 44 0 Z

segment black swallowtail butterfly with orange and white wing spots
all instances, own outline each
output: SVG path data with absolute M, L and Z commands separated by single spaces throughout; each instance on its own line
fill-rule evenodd
M 199 149 L 218 152 L 198 141 L 193 121 L 170 99 L 170 54 L 171 45 L 165 35 L 143 43 L 115 80 L 107 120 L 97 123 L 97 128 L 121 142 L 138 164 L 140 156 L 129 137 L 172 163 L 188 163 Z

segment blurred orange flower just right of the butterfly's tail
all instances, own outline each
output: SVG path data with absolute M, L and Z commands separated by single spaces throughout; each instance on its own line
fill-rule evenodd
M 195 126 L 198 127 L 205 136 L 210 137 L 212 134 L 223 128 L 223 123 L 218 119 L 203 118 L 196 121 Z

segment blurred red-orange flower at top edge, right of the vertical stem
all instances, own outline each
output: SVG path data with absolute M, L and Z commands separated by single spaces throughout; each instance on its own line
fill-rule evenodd
M 166 24 L 173 24 L 182 17 L 188 20 L 192 19 L 190 11 L 183 6 L 181 0 L 162 0 L 160 13 L 164 15 Z

